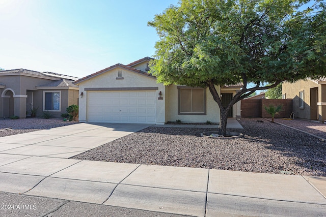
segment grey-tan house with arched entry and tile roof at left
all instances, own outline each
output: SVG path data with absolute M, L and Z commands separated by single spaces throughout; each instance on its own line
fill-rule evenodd
M 26 69 L 0 71 L 0 117 L 20 118 L 50 112 L 53 117 L 67 113 L 69 105 L 78 103 L 76 77 Z

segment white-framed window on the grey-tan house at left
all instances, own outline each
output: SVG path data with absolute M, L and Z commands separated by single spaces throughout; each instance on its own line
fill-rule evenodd
M 61 111 L 61 91 L 43 92 L 43 111 Z

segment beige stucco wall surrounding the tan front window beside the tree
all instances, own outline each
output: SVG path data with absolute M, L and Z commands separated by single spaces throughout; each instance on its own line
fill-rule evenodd
M 218 88 L 219 89 L 219 88 Z M 218 123 L 220 122 L 220 108 L 213 100 L 209 90 L 206 89 L 206 114 L 204 115 L 184 115 L 178 114 L 178 89 L 176 85 L 169 85 L 166 88 L 166 120 L 182 122 L 206 122 L 207 120 Z

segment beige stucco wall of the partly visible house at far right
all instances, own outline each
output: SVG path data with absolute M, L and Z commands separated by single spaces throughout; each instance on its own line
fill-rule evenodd
M 294 83 L 284 82 L 282 83 L 282 95 L 285 95 L 286 99 L 293 99 L 293 111 L 295 116 L 299 118 L 310 119 L 310 89 L 319 87 L 317 83 L 307 79 L 299 80 Z M 304 108 L 299 108 L 300 92 L 304 91 Z M 320 94 L 318 94 L 318 102 L 320 102 Z

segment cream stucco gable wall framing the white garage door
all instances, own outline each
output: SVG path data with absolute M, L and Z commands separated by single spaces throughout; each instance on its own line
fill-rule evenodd
M 145 64 L 146 65 L 146 64 Z M 116 79 L 118 71 L 122 71 L 123 79 Z M 162 92 L 162 97 L 165 99 L 166 87 L 163 84 L 156 83 L 156 79 L 136 73 L 125 68 L 116 67 L 110 71 L 104 72 L 91 79 L 80 82 L 79 95 L 83 92 L 83 98 L 79 97 L 79 121 L 87 121 L 87 91 L 85 88 L 111 88 L 111 87 L 157 87 L 156 96 L 159 91 Z M 165 117 L 165 100 L 156 100 L 156 124 L 164 124 Z

